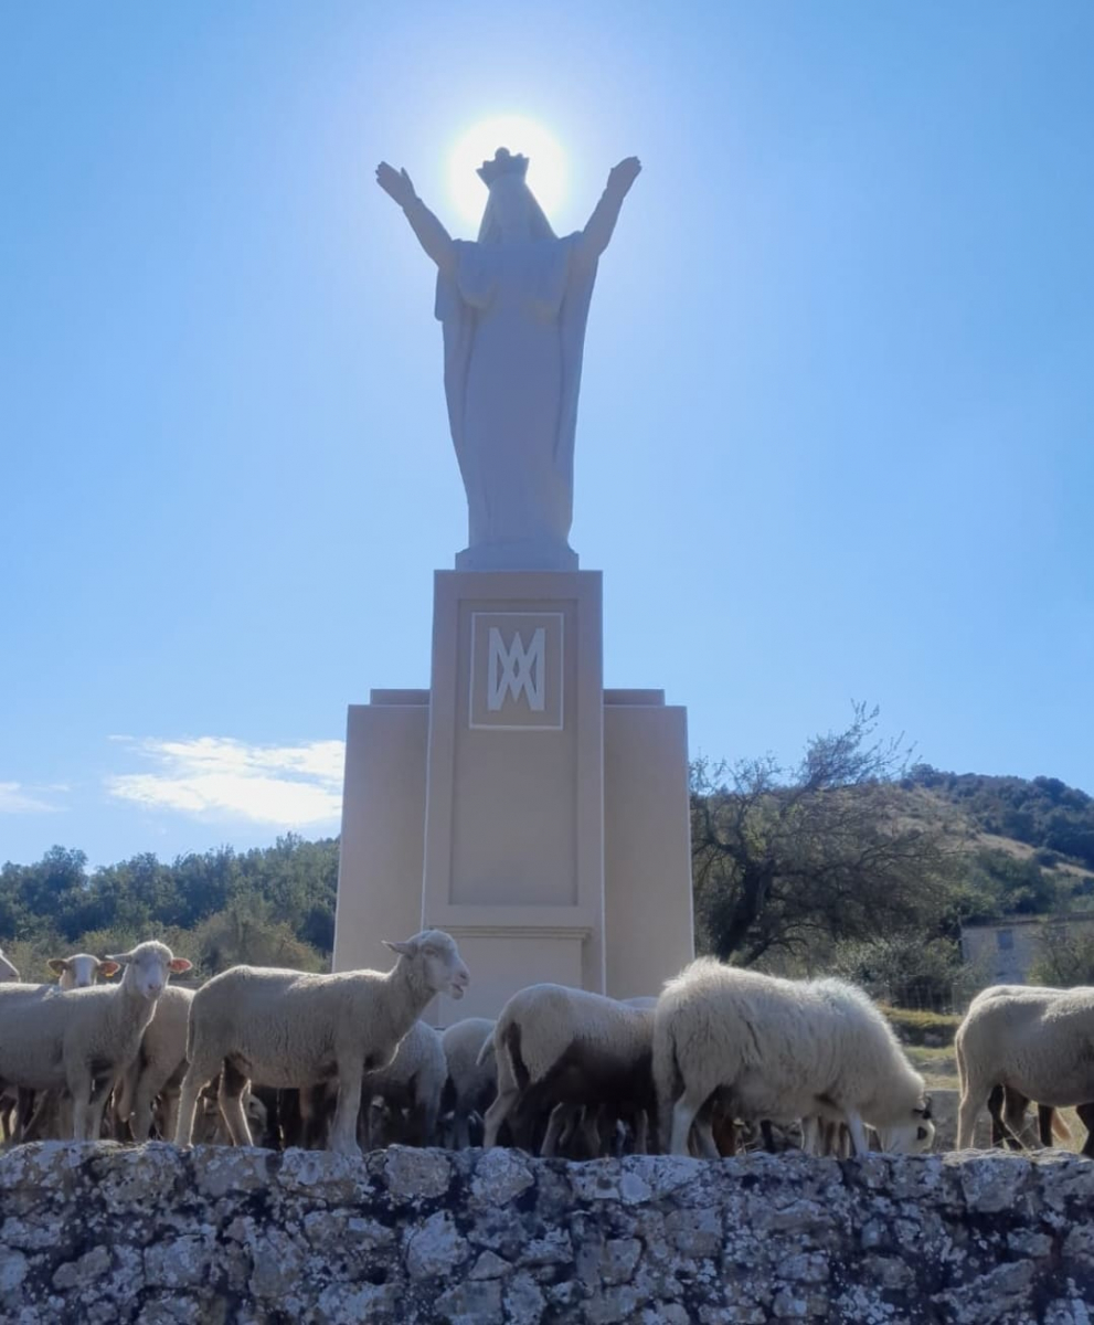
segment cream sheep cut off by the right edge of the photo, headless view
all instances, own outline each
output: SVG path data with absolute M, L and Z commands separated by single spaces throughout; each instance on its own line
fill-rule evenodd
M 980 1109 L 995 1086 L 1004 1086 L 1004 1132 L 1016 1134 L 1017 1114 L 1025 1110 L 1026 1100 L 1036 1100 L 1045 1110 L 1074 1105 L 1087 1126 L 1082 1153 L 1093 1157 L 1093 1041 L 1094 988 L 1089 986 L 997 984 L 977 994 L 954 1037 L 962 1090 L 958 1150 L 972 1143 Z M 1052 1126 L 1048 1113 L 1042 1114 L 1042 1141 L 1045 1124 Z

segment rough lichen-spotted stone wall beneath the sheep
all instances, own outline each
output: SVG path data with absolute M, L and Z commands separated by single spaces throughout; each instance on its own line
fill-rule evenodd
M 1087 1325 L 1091 1198 L 1064 1154 L 46 1142 L 0 1157 L 0 1320 Z

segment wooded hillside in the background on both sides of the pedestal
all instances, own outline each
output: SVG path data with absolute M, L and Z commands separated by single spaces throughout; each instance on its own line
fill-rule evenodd
M 936 815 L 956 843 L 946 892 L 914 921 L 920 942 L 952 942 L 962 922 L 1090 909 L 1094 798 L 1054 778 L 952 774 L 927 765 L 886 786 L 905 798 L 898 819 L 928 829 Z M 702 815 L 703 804 L 697 792 L 693 814 Z M 869 814 L 854 822 L 869 832 Z M 171 864 L 147 852 L 94 872 L 81 851 L 54 847 L 34 864 L 0 868 L 0 946 L 25 979 L 48 979 L 49 957 L 121 951 L 152 934 L 204 975 L 240 961 L 322 970 L 334 943 L 336 882 L 336 839 L 290 835 L 264 849 L 223 847 Z M 815 931 L 821 954 L 825 933 L 838 937 L 822 918 Z

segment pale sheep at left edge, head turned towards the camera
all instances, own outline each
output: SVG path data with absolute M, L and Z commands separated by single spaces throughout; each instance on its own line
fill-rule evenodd
M 74 1141 L 98 1136 L 102 1105 L 115 1076 L 136 1057 L 156 999 L 171 975 L 191 965 L 154 941 L 107 961 L 126 967 L 119 984 L 0 986 L 0 1086 L 68 1086 Z

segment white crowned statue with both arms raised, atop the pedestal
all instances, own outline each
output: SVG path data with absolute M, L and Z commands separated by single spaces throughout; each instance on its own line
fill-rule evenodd
M 376 182 L 437 264 L 445 395 L 468 493 L 468 570 L 572 570 L 573 433 L 596 264 L 641 164 L 628 156 L 584 231 L 558 238 L 524 183 L 524 156 L 499 147 L 479 175 L 490 193 L 478 241 L 453 240 L 385 162 Z

